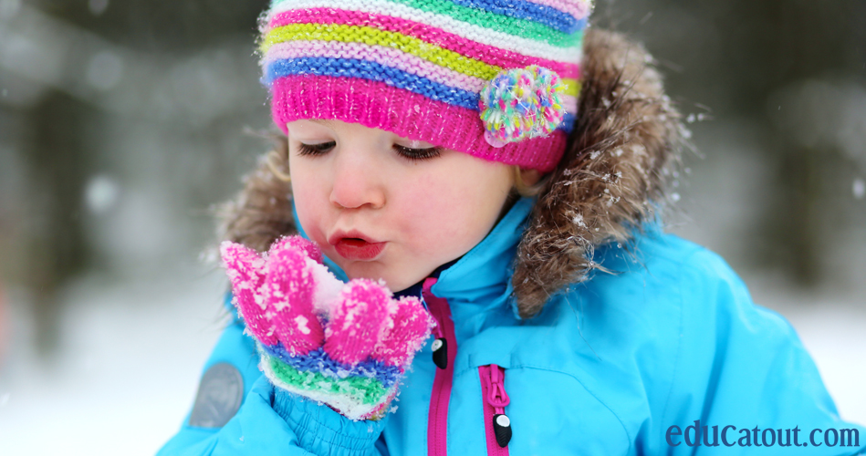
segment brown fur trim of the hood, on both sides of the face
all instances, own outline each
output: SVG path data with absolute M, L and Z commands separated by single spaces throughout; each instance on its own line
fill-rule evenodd
M 544 179 L 517 247 L 514 297 L 520 316 L 536 315 L 550 295 L 605 271 L 595 248 L 618 242 L 665 206 L 669 176 L 683 145 L 680 114 L 664 95 L 652 57 L 625 37 L 587 30 L 581 66 L 579 118 L 557 168 Z M 245 178 L 237 199 L 221 211 L 224 239 L 264 251 L 296 233 L 287 146 Z

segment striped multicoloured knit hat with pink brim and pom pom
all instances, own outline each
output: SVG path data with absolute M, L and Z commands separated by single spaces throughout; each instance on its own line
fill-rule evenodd
M 284 132 L 339 119 L 552 170 L 591 0 L 272 0 L 263 82 Z

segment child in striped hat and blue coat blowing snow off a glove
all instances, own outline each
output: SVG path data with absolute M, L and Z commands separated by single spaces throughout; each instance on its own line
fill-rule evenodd
M 287 139 L 226 214 L 239 316 L 162 454 L 861 451 L 788 323 L 662 232 L 680 117 L 589 12 L 274 0 Z

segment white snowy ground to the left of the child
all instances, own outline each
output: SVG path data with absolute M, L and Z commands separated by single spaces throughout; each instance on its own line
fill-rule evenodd
M 191 271 L 147 284 L 79 284 L 48 366 L 26 345 L 32 324 L 12 302 L 0 454 L 155 453 L 192 404 L 223 327 L 224 286 L 221 275 Z

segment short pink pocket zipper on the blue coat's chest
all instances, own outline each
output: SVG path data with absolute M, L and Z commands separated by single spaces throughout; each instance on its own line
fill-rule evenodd
M 485 436 L 488 456 L 507 456 L 511 441 L 511 420 L 506 405 L 511 402 L 506 393 L 506 369 L 491 364 L 479 366 L 481 396 L 485 409 Z

